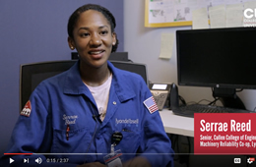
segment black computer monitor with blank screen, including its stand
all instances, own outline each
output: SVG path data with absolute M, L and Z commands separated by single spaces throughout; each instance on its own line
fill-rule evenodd
M 178 84 L 213 87 L 224 106 L 243 109 L 235 92 L 256 88 L 255 36 L 256 28 L 177 30 Z

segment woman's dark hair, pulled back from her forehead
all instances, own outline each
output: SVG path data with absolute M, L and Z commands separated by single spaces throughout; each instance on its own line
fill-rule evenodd
M 114 32 L 114 28 L 115 28 L 115 19 L 113 17 L 113 15 L 104 7 L 101 7 L 99 5 L 96 4 L 87 4 L 84 6 L 81 6 L 80 8 L 78 8 L 69 18 L 69 22 L 68 22 L 68 34 L 71 38 L 74 38 L 73 35 L 73 30 L 78 22 L 78 19 L 80 17 L 80 15 L 88 10 L 95 10 L 100 12 L 108 21 L 110 27 L 111 27 L 111 32 Z M 117 35 L 116 35 L 116 43 L 115 45 L 112 46 L 112 50 L 111 52 L 115 52 L 118 46 L 118 39 L 117 39 Z

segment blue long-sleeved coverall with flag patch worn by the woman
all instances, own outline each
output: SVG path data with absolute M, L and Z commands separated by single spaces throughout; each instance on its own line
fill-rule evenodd
M 153 167 L 173 165 L 171 142 L 164 132 L 159 111 L 151 114 L 144 104 L 152 96 L 147 84 L 141 76 L 117 69 L 110 62 L 107 64 L 112 82 L 102 122 L 97 118 L 96 101 L 81 79 L 79 61 L 70 70 L 38 84 L 30 97 L 30 116 L 19 117 L 6 152 L 39 154 L 12 156 L 16 161 L 13 165 L 20 160 L 19 166 L 28 166 L 22 163 L 24 158 L 30 158 L 30 164 L 34 165 L 38 157 L 42 159 L 40 166 L 104 163 L 114 132 L 123 136 L 114 147 L 123 153 L 123 162 L 144 156 Z M 68 158 L 68 163 L 53 162 L 61 158 Z M 3 159 L 9 162 L 8 156 Z

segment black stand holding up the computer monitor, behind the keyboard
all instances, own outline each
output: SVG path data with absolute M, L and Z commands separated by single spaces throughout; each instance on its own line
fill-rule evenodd
M 213 88 L 213 96 L 219 97 L 224 107 L 246 110 L 242 100 L 237 96 L 235 88 Z

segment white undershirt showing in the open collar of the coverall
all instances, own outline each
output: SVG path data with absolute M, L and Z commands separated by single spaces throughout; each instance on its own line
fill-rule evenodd
M 112 81 L 112 75 L 109 76 L 109 78 L 107 79 L 107 81 L 105 81 L 105 83 L 102 83 L 98 86 L 90 86 L 85 83 L 90 89 L 90 91 L 92 92 L 96 100 L 96 106 L 97 106 L 98 114 L 100 114 L 101 121 L 103 121 L 103 119 L 105 118 L 111 81 Z

